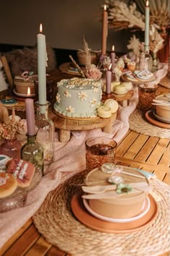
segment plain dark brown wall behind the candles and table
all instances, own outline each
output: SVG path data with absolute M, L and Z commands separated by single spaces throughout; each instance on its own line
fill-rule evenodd
M 34 46 L 40 23 L 53 48 L 82 48 L 84 35 L 93 50 L 101 48 L 104 0 L 1 0 L 0 44 Z M 130 34 L 108 31 L 107 51 L 127 51 Z

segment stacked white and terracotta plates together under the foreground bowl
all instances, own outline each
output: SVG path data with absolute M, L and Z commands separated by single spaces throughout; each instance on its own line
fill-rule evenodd
M 156 218 L 158 206 L 156 200 L 149 194 L 147 197 L 146 206 L 141 211 L 139 216 L 129 219 L 106 219 L 104 216 L 99 216 L 97 213 L 91 212 L 89 204 L 81 198 L 83 193 L 76 192 L 71 200 L 71 209 L 74 216 L 91 229 L 106 233 L 130 233 L 144 229 L 150 225 Z M 95 216 L 94 216 L 95 215 Z

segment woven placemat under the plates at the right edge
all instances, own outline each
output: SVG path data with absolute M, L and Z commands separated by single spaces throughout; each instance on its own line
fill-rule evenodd
M 142 135 L 170 139 L 170 129 L 156 127 L 150 124 L 146 120 L 145 114 L 139 108 L 135 108 L 135 111 L 130 114 L 129 125 L 131 130 Z

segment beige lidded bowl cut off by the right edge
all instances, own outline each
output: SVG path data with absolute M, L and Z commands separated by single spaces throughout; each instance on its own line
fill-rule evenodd
M 166 95 L 159 95 L 156 97 L 156 100 L 167 101 L 167 97 Z M 161 117 L 161 119 L 170 121 L 170 106 L 156 105 L 156 115 Z

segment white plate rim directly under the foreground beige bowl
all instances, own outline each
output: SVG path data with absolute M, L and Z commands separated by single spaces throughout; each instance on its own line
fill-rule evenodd
M 90 208 L 88 200 L 83 198 L 83 202 L 84 202 L 84 206 L 85 206 L 86 210 L 88 210 L 89 213 L 91 213 L 91 215 L 93 215 L 94 217 L 97 217 L 102 221 L 115 222 L 115 223 L 126 223 L 126 222 L 130 222 L 130 221 L 138 220 L 139 218 L 142 218 L 144 215 L 146 215 L 146 213 L 148 213 L 148 210 L 151 205 L 149 198 L 146 197 L 146 201 L 143 203 L 143 210 L 137 216 L 134 216 L 132 218 L 109 218 L 109 217 L 105 217 L 105 216 L 100 215 L 99 213 L 94 212 L 94 210 L 92 210 Z

